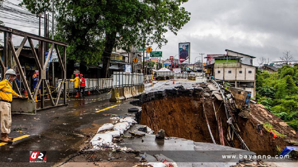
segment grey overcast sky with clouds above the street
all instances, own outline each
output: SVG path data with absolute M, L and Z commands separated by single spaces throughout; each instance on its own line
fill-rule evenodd
M 179 42 L 190 42 L 191 62 L 199 53 L 206 56 L 225 53 L 225 49 L 257 57 L 254 65 L 259 57 L 278 61 L 284 50 L 291 51 L 298 60 L 297 0 L 190 0 L 183 6 L 191 12 L 190 21 L 177 36 L 165 34 L 167 45 L 157 49 L 163 52 L 164 59 L 178 54 Z M 38 34 L 37 29 L 4 23 Z M 156 46 L 152 46 L 153 50 Z

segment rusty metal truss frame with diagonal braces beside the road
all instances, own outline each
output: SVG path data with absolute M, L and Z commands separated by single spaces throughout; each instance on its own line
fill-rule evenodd
M 62 89 L 63 89 L 63 98 L 64 99 L 63 99 L 63 104 L 60 104 L 60 105 L 67 105 L 66 104 L 66 91 L 64 90 L 66 87 L 65 81 L 66 81 L 66 47 L 68 46 L 67 43 L 56 41 L 56 40 L 51 40 L 51 39 L 48 39 L 45 37 L 41 37 L 41 36 L 38 36 L 35 34 L 30 34 L 30 33 L 24 32 L 24 31 L 20 31 L 17 29 L 13 29 L 13 28 L 1 26 L 1 25 L 0 25 L 0 31 L 4 32 L 4 61 L 2 60 L 2 57 L 0 59 L 2 78 L 5 78 L 4 73 L 9 68 L 15 68 L 15 66 L 13 66 L 13 63 L 12 63 L 15 61 L 15 64 L 17 65 L 17 67 L 19 69 L 20 76 L 21 76 L 22 80 L 24 81 L 24 87 L 25 87 L 25 90 L 27 91 L 28 98 L 30 100 L 35 99 L 35 96 L 38 93 L 38 88 L 41 85 L 41 94 L 43 94 L 43 92 L 44 92 L 44 87 L 46 87 L 46 90 L 49 92 L 49 98 L 50 98 L 50 102 L 51 102 L 51 106 L 49 106 L 49 107 L 59 106 L 58 102 L 60 99 L 60 94 L 62 92 Z M 21 45 L 18 47 L 17 51 L 15 51 L 15 47 L 13 45 L 12 34 L 20 36 L 20 37 L 24 37 L 21 42 Z M 41 51 L 39 54 L 36 53 L 32 40 L 37 40 L 41 44 L 39 46 L 40 51 Z M 30 44 L 32 54 L 34 56 L 34 59 L 35 59 L 35 62 L 36 62 L 36 65 L 37 65 L 38 71 L 39 71 L 39 81 L 38 81 L 37 86 L 35 87 L 33 95 L 31 94 L 30 87 L 28 86 L 27 80 L 25 78 L 24 72 L 21 68 L 21 64 L 18 59 L 18 56 L 20 55 L 21 50 L 27 41 Z M 44 47 L 46 47 L 46 45 L 48 45 L 48 44 L 51 44 L 51 48 L 49 49 L 48 55 L 52 54 L 52 50 L 55 47 L 57 56 L 58 56 L 58 60 L 59 60 L 59 64 L 60 64 L 60 67 L 62 70 L 63 86 L 59 87 L 58 94 L 55 99 L 52 97 L 51 89 L 49 88 L 49 85 L 46 82 L 46 67 L 49 62 L 50 56 L 47 56 L 46 60 L 44 59 L 44 56 L 45 56 L 44 55 L 45 54 Z M 63 47 L 63 60 L 60 56 L 58 45 Z M 49 108 L 49 107 L 46 107 L 46 108 Z M 45 108 L 44 107 L 44 98 L 41 98 L 41 109 L 43 109 L 43 108 Z

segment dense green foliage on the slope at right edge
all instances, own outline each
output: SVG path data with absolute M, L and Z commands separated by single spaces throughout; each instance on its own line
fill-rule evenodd
M 256 98 L 274 115 L 288 121 L 297 131 L 298 127 L 298 65 L 285 65 L 278 73 L 256 74 Z

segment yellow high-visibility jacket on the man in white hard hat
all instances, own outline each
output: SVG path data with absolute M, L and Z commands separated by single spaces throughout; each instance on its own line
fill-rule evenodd
M 13 96 L 18 96 L 7 79 L 0 82 L 0 97 L 2 100 L 13 101 Z

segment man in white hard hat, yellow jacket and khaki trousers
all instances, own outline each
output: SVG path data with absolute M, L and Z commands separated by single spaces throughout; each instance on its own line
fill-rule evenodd
M 1 111 L 1 141 L 12 143 L 13 138 L 9 137 L 11 126 L 11 102 L 13 96 L 22 97 L 13 91 L 11 85 L 15 79 L 15 71 L 9 69 L 5 73 L 6 78 L 0 82 L 0 111 Z

